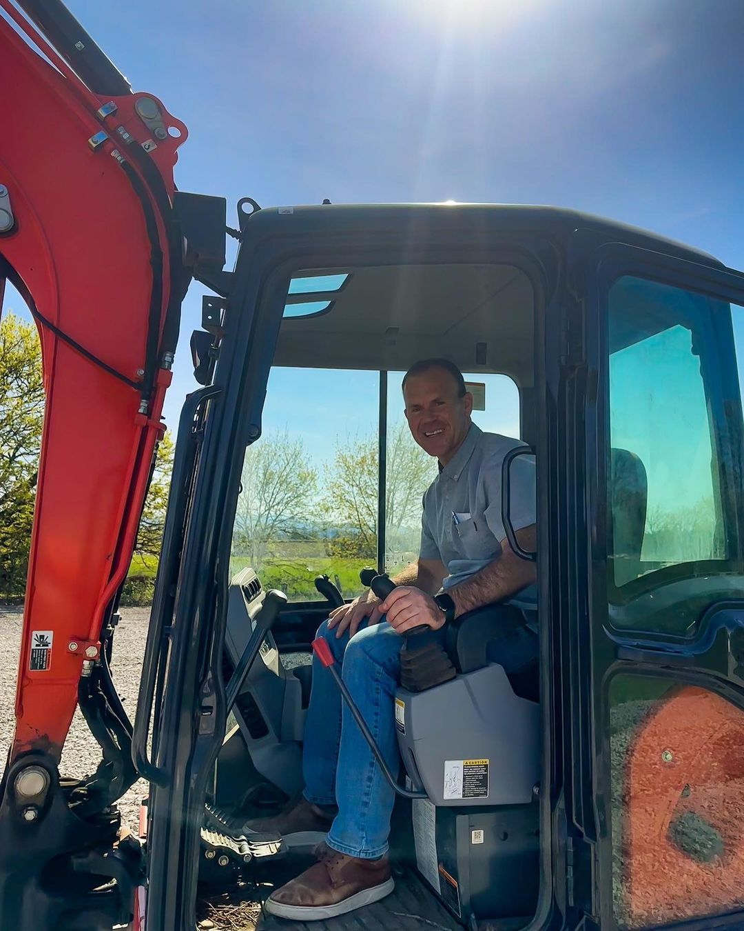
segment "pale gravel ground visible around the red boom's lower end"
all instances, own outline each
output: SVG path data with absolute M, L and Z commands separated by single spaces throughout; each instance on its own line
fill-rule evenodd
M 20 607 L 0 608 L 0 767 L 5 769 L 7 751 L 15 728 L 16 680 L 23 623 Z M 113 683 L 124 701 L 129 718 L 134 720 L 140 687 L 142 659 L 145 653 L 149 608 L 123 608 L 113 648 Z M 87 776 L 100 762 L 100 748 L 87 729 L 79 709 L 62 750 L 61 776 Z M 123 820 L 137 830 L 140 799 L 147 794 L 147 783 L 140 779 L 119 801 Z

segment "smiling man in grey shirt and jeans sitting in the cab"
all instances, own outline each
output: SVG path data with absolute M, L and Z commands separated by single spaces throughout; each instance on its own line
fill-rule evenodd
M 517 556 L 502 522 L 504 457 L 522 444 L 472 423 L 472 395 L 462 373 L 444 358 L 417 362 L 403 379 L 405 417 L 413 439 L 436 457 L 439 475 L 423 498 L 419 559 L 380 600 L 370 589 L 330 614 L 319 631 L 369 723 L 389 768 L 398 767 L 394 696 L 404 636 L 441 641 L 448 621 L 505 600 L 535 582 L 535 563 Z M 534 465 L 512 463 L 512 526 L 523 548 L 534 549 Z M 436 594 L 439 592 L 439 594 Z M 504 629 L 489 657 L 508 673 L 534 665 L 538 640 L 524 626 Z M 287 847 L 316 835 L 318 862 L 276 890 L 270 913 L 326 919 L 392 892 L 388 835 L 394 793 L 379 763 L 317 657 L 303 750 L 305 789 L 284 814 L 246 828 L 276 831 Z

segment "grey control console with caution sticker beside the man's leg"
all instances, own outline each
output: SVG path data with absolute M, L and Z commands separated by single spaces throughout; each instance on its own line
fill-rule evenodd
M 509 675 L 491 647 L 534 638 L 534 589 L 512 602 L 463 614 L 445 627 L 444 646 L 401 654 L 395 694 L 398 747 L 414 802 L 416 862 L 423 878 L 462 922 L 509 919 L 528 924 L 539 887 L 540 712 L 538 661 Z M 525 645 L 530 647 L 529 641 Z M 406 657 L 419 653 L 419 682 L 406 688 Z M 432 682 L 432 668 L 447 678 Z M 537 653 L 537 650 L 535 651 Z M 415 657 L 414 662 L 416 661 Z M 454 667 L 454 669 L 453 669 Z

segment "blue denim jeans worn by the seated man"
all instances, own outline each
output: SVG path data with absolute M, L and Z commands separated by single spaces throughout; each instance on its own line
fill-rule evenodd
M 430 636 L 444 640 L 444 630 Z M 387 621 L 364 627 L 351 639 L 348 632 L 337 639 L 336 630 L 328 630 L 328 622 L 324 621 L 318 628 L 318 637 L 324 637 L 337 662 L 343 662 L 343 681 L 385 762 L 392 773 L 397 773 L 400 756 L 394 699 L 405 638 Z M 517 637 L 506 642 L 506 654 L 494 658 L 508 671 L 521 667 L 534 655 L 529 638 Z M 339 814 L 328 832 L 328 846 L 363 859 L 381 857 L 387 852 L 395 794 L 342 701 L 336 682 L 314 654 L 302 773 L 304 796 L 309 802 L 339 806 Z

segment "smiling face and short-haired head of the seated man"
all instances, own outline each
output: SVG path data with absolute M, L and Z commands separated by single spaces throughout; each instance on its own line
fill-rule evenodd
M 403 397 L 413 439 L 446 466 L 468 436 L 472 395 L 458 397 L 458 383 L 452 375 L 432 368 L 406 378 Z

